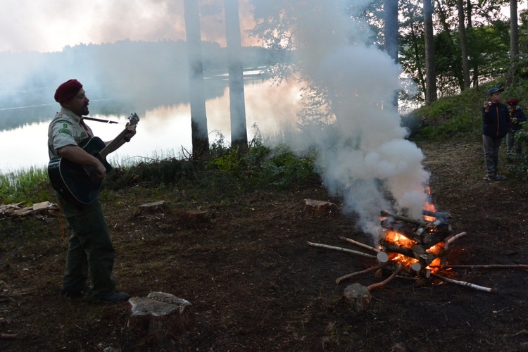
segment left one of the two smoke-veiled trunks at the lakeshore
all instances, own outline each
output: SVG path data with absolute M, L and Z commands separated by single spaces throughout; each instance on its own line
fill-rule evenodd
M 203 62 L 201 56 L 201 30 L 198 1 L 185 0 L 185 31 L 187 59 L 189 61 L 189 99 L 191 103 L 192 156 L 209 151 L 206 97 L 203 92 Z

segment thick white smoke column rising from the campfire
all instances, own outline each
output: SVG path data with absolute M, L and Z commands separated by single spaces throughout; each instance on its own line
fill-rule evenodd
M 345 210 L 359 215 L 363 231 L 377 237 L 380 210 L 421 217 L 429 173 L 422 166 L 422 151 L 406 139 L 393 105 L 402 87 L 400 66 L 386 52 L 364 44 L 367 26 L 349 17 L 371 1 L 318 2 L 307 0 L 302 6 L 317 13 L 294 16 L 299 21 L 332 19 L 297 23 L 295 31 L 303 73 L 328 90 L 336 114 L 337 128 L 315 139 L 322 150 L 318 165 L 325 186 L 343 196 Z M 353 6 L 348 15 L 345 3 Z

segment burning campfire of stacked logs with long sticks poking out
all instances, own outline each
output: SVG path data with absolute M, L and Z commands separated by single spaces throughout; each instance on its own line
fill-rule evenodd
M 449 279 L 438 274 L 441 270 L 464 266 L 446 264 L 449 246 L 451 246 L 453 241 L 466 234 L 465 232 L 453 234 L 449 223 L 451 219 L 449 213 L 437 212 L 434 206 L 428 205 L 426 209 L 422 210 L 422 218 L 420 219 L 409 218 L 386 210 L 382 210 L 380 215 L 383 230 L 379 236 L 377 246 L 369 246 L 353 239 L 339 237 L 363 249 L 368 249 L 372 254 L 308 242 L 310 246 L 344 251 L 377 260 L 377 265 L 338 277 L 336 279 L 337 284 L 368 272 L 376 272 L 376 277 L 382 277 L 382 272 L 391 272 L 390 277 L 382 282 L 371 284 L 366 288 L 367 291 L 385 286 L 394 277 L 406 277 L 420 279 L 422 282 L 427 282 L 429 279 L 440 279 L 444 282 L 496 293 L 496 289 Z

